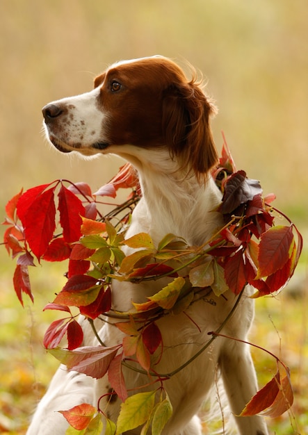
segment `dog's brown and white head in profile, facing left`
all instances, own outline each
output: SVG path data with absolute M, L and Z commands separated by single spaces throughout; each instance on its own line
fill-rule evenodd
M 195 78 L 188 81 L 162 56 L 115 63 L 97 76 L 94 90 L 42 109 L 47 136 L 60 151 L 129 156 L 165 148 L 197 177 L 217 161 L 213 111 Z

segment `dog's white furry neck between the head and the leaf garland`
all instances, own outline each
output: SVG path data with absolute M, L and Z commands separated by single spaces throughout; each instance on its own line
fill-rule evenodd
M 150 233 L 159 243 L 167 233 L 184 238 L 189 245 L 202 245 L 222 220 L 216 211 L 221 194 L 210 174 L 200 184 L 172 160 L 168 151 L 140 150 L 125 158 L 138 170 L 143 198 L 133 213 L 131 233 Z

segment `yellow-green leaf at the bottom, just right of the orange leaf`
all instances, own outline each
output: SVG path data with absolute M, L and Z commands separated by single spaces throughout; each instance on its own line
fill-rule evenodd
M 154 408 L 156 391 L 137 393 L 121 404 L 116 435 L 143 425 Z

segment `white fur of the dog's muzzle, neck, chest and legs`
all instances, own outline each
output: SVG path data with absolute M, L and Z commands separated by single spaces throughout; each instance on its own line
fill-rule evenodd
M 134 62 L 138 63 L 138 60 Z M 118 66 L 121 65 L 126 64 Z M 53 103 L 74 106 L 71 110 L 77 130 L 74 130 L 73 124 L 65 125 L 65 133 L 60 138 L 62 145 L 66 143 L 68 150 L 76 149 L 72 143 L 77 140 L 81 142 L 78 151 L 82 154 L 97 153 L 97 150 L 91 149 L 87 142 L 90 129 L 101 129 L 99 140 L 104 138 L 106 114 L 99 113 L 97 103 L 94 104 L 95 108 L 88 104 L 97 92 L 95 90 Z M 108 116 L 111 115 L 108 113 Z M 80 120 L 85 121 L 85 124 L 81 124 Z M 60 118 L 58 122 L 61 122 Z M 91 126 L 90 129 L 88 125 Z M 47 126 L 49 135 L 53 134 L 53 128 L 52 124 Z M 83 140 L 80 140 L 81 136 Z M 157 244 L 166 233 L 175 233 L 185 238 L 190 245 L 202 245 L 222 226 L 222 217 L 216 211 L 221 194 L 210 176 L 207 177 L 206 183 L 200 186 L 195 175 L 187 174 L 180 168 L 177 160 L 170 157 L 166 148 L 111 145 L 103 150 L 102 154 L 107 152 L 130 161 L 140 177 L 143 197 L 133 211 L 127 238 L 145 231 Z M 147 296 L 156 293 L 166 282 L 168 280 L 165 279 L 143 284 L 114 281 L 113 306 L 119 311 L 129 311 L 132 309 L 132 300 L 145 302 Z M 247 288 L 236 312 L 222 329 L 222 333 L 242 340 L 247 338 L 254 316 L 254 302 L 248 297 L 250 293 L 250 288 Z M 201 299 L 192 304 L 186 313 L 170 314 L 157 322 L 163 336 L 164 352 L 161 361 L 154 366 L 156 372 L 172 372 L 191 359 L 211 338 L 208 335 L 209 331 L 215 331 L 222 324 L 236 301 L 236 296 L 230 291 L 225 293 L 224 297 L 216 297 L 213 293 L 210 297 L 211 303 L 209 299 Z M 87 320 L 81 318 L 80 322 L 85 331 L 83 345 L 96 344 Z M 108 323 L 95 320 L 99 336 L 108 346 L 122 343 L 123 335 L 112 323 L 110 319 Z M 184 370 L 164 382 L 172 402 L 173 413 L 163 430 L 163 435 L 202 434 L 197 413 L 202 402 L 213 391 L 217 370 L 222 375 L 229 406 L 235 415 L 241 412 L 257 392 L 257 380 L 248 346 L 234 340 L 216 338 L 209 348 Z M 143 386 L 149 381 L 145 375 L 128 368 L 124 368 L 124 377 L 129 389 Z M 109 388 L 106 376 L 96 380 L 75 372 L 67 372 L 60 366 L 46 395 L 38 405 L 27 435 L 64 435 L 68 425 L 65 418 L 56 411 L 70 409 L 81 402 L 97 406 L 99 397 L 106 394 Z M 106 408 L 107 401 L 105 398 L 100 400 L 99 407 L 106 411 L 111 419 L 116 420 L 120 411 L 120 400 L 117 399 Z M 268 434 L 264 420 L 259 416 L 236 418 L 236 424 L 241 435 Z M 140 429 L 135 429 L 129 434 L 140 434 Z

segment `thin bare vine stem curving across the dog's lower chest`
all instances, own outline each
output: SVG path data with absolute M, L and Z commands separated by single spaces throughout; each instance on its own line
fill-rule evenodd
M 191 357 L 191 359 L 188 359 L 188 361 L 186 361 L 186 363 L 182 364 L 181 366 L 179 366 L 178 368 L 176 368 L 175 370 L 173 370 L 170 373 L 157 373 L 157 372 L 146 372 L 145 370 L 130 366 L 126 361 L 122 361 L 122 366 L 125 366 L 135 372 L 138 373 L 142 373 L 143 375 L 150 375 L 150 376 L 159 376 L 159 377 L 165 377 L 167 379 L 170 379 L 170 377 L 177 375 L 178 372 L 180 372 L 181 370 L 183 370 L 184 368 L 186 368 L 189 364 L 191 364 L 198 356 L 200 356 L 202 354 L 202 352 L 204 352 L 204 350 L 207 349 L 207 347 L 209 347 L 209 345 L 211 345 L 211 343 L 213 343 L 213 340 L 215 340 L 217 337 L 220 336 L 220 331 L 222 330 L 223 327 L 225 327 L 225 325 L 227 324 L 227 322 L 229 321 L 229 319 L 232 317 L 234 311 L 236 310 L 241 297 L 243 296 L 243 291 L 241 291 L 241 293 L 238 295 L 238 298 L 236 299 L 236 302 L 234 304 L 234 306 L 232 306 L 231 311 L 229 312 L 229 314 L 227 315 L 227 317 L 225 318 L 225 320 L 222 322 L 222 324 L 220 325 L 220 327 L 218 327 L 218 329 L 216 329 L 216 331 L 211 331 L 208 334 L 212 335 L 212 338 L 210 338 L 210 340 L 208 340 L 205 345 L 199 350 L 199 352 L 197 352 L 195 355 L 193 355 Z M 223 336 L 223 335 L 221 335 Z M 225 336 L 226 338 L 228 338 L 227 336 Z M 270 352 L 268 352 L 270 353 Z

